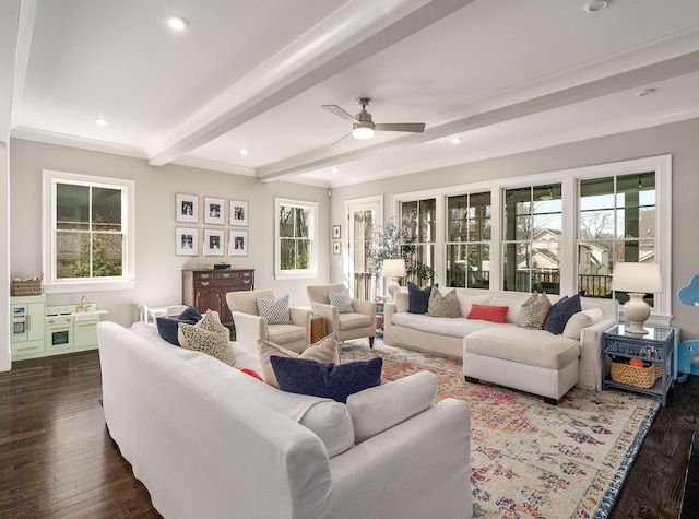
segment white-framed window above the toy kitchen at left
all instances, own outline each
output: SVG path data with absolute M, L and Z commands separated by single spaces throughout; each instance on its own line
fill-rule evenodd
M 133 182 L 44 172 L 47 293 L 133 287 Z

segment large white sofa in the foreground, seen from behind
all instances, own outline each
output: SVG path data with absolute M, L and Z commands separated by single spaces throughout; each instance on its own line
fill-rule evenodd
M 168 519 L 472 517 L 465 402 L 433 404 L 429 396 L 424 411 L 382 432 L 386 414 L 365 420 L 429 373 L 360 391 L 345 405 L 236 369 L 260 366 L 235 343 L 230 367 L 168 344 L 146 325 L 102 322 L 97 333 L 109 434 Z

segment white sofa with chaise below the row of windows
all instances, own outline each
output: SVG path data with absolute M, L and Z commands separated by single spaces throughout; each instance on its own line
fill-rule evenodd
M 463 317 L 473 304 L 508 306 L 506 322 L 410 314 L 408 295 L 399 292 L 395 302 L 384 306 L 384 343 L 462 357 L 464 375 L 470 379 L 500 384 L 550 400 L 557 400 L 576 385 L 602 389 L 601 338 L 617 322 L 616 300 L 581 297 L 582 309 L 599 308 L 602 318 L 582 328 L 578 338 L 568 338 L 517 327 L 520 307 L 530 294 L 478 288 L 440 288 L 440 292 L 450 290 L 457 291 Z M 547 296 L 552 304 L 560 298 Z M 554 361 L 545 358 L 553 355 Z M 532 358 L 540 359 L 537 365 L 529 363 Z M 562 365 L 552 368 L 546 363 Z

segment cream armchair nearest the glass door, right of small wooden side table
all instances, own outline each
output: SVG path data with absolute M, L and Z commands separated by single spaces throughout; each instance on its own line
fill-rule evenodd
M 325 319 L 325 333 L 336 333 L 339 341 L 369 338 L 369 347 L 374 347 L 376 337 L 376 303 L 365 299 L 352 299 L 353 312 L 340 314 L 330 304 L 328 291 L 341 293 L 347 287 L 342 283 L 332 285 L 309 285 L 306 287 L 313 315 Z

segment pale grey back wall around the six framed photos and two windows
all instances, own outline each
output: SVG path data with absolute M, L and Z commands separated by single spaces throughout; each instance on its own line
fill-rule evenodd
M 73 148 L 42 144 L 13 139 L 10 142 L 11 232 L 10 269 L 13 276 L 29 278 L 42 273 L 42 170 L 79 173 L 135 181 L 137 258 L 135 288 L 88 293 L 91 302 L 109 311 L 108 319 L 130 326 L 138 304 L 164 305 L 181 303 L 181 269 L 205 263 L 230 262 L 232 267 L 256 269 L 256 287 L 272 288 L 279 295 L 291 294 L 293 305 L 308 305 L 306 285 L 328 282 L 327 258 L 330 250 L 330 202 L 328 190 L 291 182 L 262 184 L 254 178 L 167 165 L 151 167 L 140 158 L 97 153 Z M 1 168 L 1 166 L 0 166 Z M 0 169 L 0 176 L 2 170 Z M 249 201 L 249 253 L 247 257 L 175 255 L 175 228 L 194 226 L 225 228 L 230 226 L 175 222 L 176 193 Z M 1 193 L 0 193 L 1 196 Z M 317 280 L 274 280 L 274 198 L 311 200 L 320 212 L 320 276 Z M 228 212 L 226 211 L 226 219 Z M 1 226 L 1 222 L 0 222 Z M 226 234 L 227 239 L 227 234 Z M 201 244 L 200 244 L 201 249 Z M 0 266 L 1 267 L 1 266 Z M 2 273 L 0 272 L 0 276 Z M 9 274 L 2 276 L 2 282 Z M 5 291 L 9 294 L 9 288 Z M 48 305 L 80 303 L 82 294 L 47 295 Z M 4 311 L 2 315 L 7 315 Z M 5 332 L 3 337 L 9 337 Z

